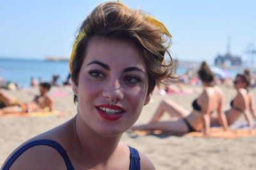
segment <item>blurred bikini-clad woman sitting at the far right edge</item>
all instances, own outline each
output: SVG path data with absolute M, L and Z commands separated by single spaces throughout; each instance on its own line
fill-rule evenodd
M 245 70 L 243 74 L 237 74 L 234 80 L 234 88 L 237 91 L 236 97 L 230 102 L 230 110 L 225 111 L 228 125 L 234 124 L 237 118 L 244 114 L 250 129 L 253 129 L 253 117 L 256 120 L 256 113 L 254 108 L 254 98 L 250 94 L 248 87 L 250 85 L 250 71 Z M 218 125 L 219 122 L 216 118 L 211 119 L 211 124 Z

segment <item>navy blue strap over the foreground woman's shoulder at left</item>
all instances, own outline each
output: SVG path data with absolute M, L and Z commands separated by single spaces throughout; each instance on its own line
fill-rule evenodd
M 47 146 L 51 146 L 52 148 L 56 149 L 61 157 L 63 158 L 67 169 L 68 170 L 74 170 L 74 167 L 72 166 L 72 163 L 70 161 L 70 159 L 68 158 L 67 152 L 66 150 L 56 141 L 52 141 L 49 139 L 40 139 L 40 140 L 36 140 L 36 141 L 31 141 L 29 143 L 27 143 L 26 145 L 22 146 L 19 150 L 17 150 L 17 152 L 15 152 L 12 157 L 10 157 L 10 159 L 8 159 L 8 161 L 6 162 L 6 164 L 3 167 L 3 170 L 8 170 L 13 162 L 26 150 L 28 150 L 29 148 L 36 146 L 36 145 L 47 145 Z

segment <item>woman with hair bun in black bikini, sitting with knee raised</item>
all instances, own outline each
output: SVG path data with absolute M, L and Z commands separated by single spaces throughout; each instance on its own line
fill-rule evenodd
M 192 103 L 193 111 L 189 114 L 184 108 L 172 101 L 163 101 L 148 124 L 136 125 L 132 130 L 162 130 L 173 134 L 186 134 L 188 132 L 203 131 L 209 134 L 210 118 L 213 111 L 217 111 L 218 120 L 227 131 L 227 120 L 223 113 L 223 94 L 214 86 L 214 74 L 206 62 L 202 62 L 198 75 L 202 81 L 204 91 Z M 177 120 L 159 122 L 164 111 Z

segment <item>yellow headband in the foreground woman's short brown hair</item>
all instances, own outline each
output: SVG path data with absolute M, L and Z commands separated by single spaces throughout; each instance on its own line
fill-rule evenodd
M 146 20 L 148 20 L 148 22 L 150 22 L 150 24 L 154 25 L 155 27 L 158 27 L 159 31 L 163 32 L 164 34 L 166 34 L 167 36 L 170 36 L 172 38 L 172 35 L 166 29 L 166 27 L 164 26 L 163 23 L 159 22 L 155 18 L 150 17 L 149 15 L 144 15 L 144 17 L 146 18 Z M 77 44 L 81 41 L 81 39 L 83 39 L 83 37 L 85 35 L 86 35 L 85 31 L 82 30 L 81 32 L 79 32 L 79 34 L 77 35 L 76 40 L 74 42 L 74 45 L 72 48 L 72 53 L 71 53 L 70 60 L 69 60 L 69 72 L 70 73 L 72 73 L 72 61 L 74 60 L 74 57 L 76 56 Z

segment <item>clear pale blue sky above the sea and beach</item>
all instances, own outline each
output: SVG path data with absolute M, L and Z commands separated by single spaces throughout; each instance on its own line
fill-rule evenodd
M 95 6 L 106 1 L 1 0 L 0 56 L 44 59 L 68 57 L 77 27 Z M 213 61 L 218 53 L 246 57 L 249 43 L 256 45 L 254 0 L 121 0 L 147 11 L 173 35 L 172 55 L 180 60 Z

